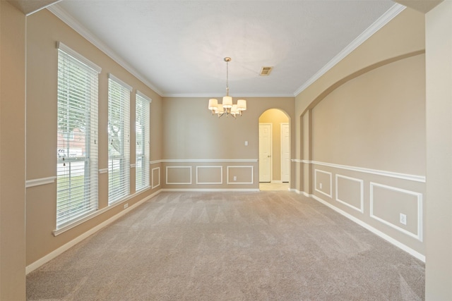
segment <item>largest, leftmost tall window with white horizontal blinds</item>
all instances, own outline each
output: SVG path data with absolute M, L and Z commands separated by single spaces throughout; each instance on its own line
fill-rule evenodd
M 97 210 L 100 68 L 58 44 L 57 229 Z

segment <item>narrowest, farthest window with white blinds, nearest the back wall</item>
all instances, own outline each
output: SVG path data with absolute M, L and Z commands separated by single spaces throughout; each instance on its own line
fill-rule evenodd
M 136 92 L 136 182 L 135 190 L 149 187 L 149 119 L 150 99 L 141 92 Z

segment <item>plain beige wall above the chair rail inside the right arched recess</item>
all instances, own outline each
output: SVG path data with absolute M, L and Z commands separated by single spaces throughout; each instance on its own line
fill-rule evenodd
M 314 161 L 424 176 L 424 54 L 346 82 L 312 116 Z

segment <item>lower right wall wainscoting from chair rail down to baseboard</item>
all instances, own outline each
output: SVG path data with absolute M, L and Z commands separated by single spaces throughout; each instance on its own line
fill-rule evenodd
M 303 176 L 309 175 L 297 192 L 425 261 L 424 175 L 303 159 L 292 162 L 304 171 Z

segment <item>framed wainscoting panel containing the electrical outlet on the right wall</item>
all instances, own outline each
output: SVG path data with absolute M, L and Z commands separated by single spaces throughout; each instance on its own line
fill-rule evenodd
M 402 218 L 402 215 L 405 216 Z M 370 183 L 370 216 L 422 241 L 422 193 Z M 402 222 L 405 219 L 406 225 Z

